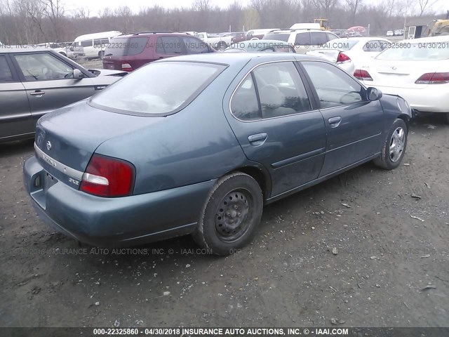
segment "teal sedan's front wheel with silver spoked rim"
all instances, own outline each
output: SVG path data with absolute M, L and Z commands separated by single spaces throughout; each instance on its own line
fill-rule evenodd
M 407 137 L 406 122 L 396 119 L 384 140 L 380 157 L 373 160 L 374 164 L 386 170 L 396 169 L 406 153 Z

